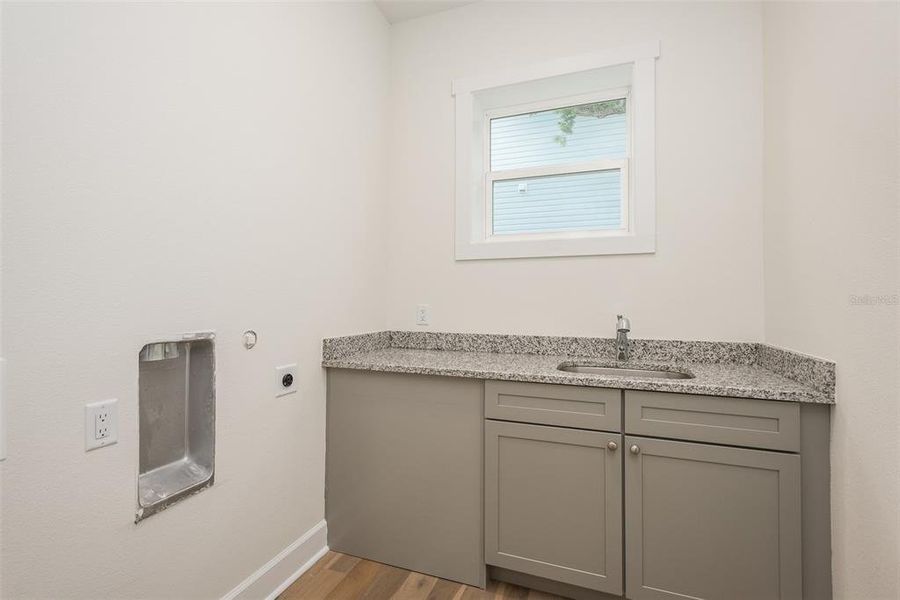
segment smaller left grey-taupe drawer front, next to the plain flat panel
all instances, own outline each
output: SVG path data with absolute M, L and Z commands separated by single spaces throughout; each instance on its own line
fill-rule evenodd
M 486 381 L 484 414 L 489 419 L 622 430 L 622 392 L 545 383 Z

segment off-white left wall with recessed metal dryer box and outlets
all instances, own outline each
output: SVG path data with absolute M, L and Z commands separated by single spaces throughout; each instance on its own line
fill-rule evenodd
M 387 25 L 33 3 L 4 4 L 2 38 L 0 596 L 221 597 L 323 518 L 321 338 L 383 327 Z M 135 526 L 137 352 L 200 329 L 216 483 Z M 86 454 L 83 406 L 111 397 L 119 443 Z

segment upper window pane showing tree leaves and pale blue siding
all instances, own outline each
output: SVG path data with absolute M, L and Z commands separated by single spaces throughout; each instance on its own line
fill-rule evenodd
M 491 170 L 624 158 L 625 99 L 491 119 Z

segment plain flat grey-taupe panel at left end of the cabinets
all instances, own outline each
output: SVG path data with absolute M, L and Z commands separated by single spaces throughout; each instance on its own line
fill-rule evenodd
M 482 390 L 462 377 L 329 371 L 329 548 L 484 585 Z

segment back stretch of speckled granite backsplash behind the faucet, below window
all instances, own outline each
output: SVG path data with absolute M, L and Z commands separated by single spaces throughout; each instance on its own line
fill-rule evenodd
M 613 338 L 431 331 L 391 331 L 390 334 L 391 348 L 411 350 L 565 355 L 603 359 L 615 359 L 616 355 L 616 341 Z M 632 339 L 630 360 L 752 365 L 756 363 L 756 344 Z

